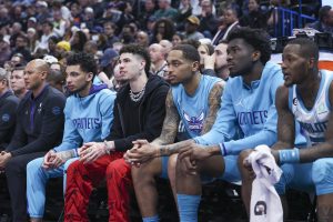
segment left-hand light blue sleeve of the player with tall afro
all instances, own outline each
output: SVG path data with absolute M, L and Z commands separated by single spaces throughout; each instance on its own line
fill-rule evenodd
M 194 138 L 194 141 L 203 145 L 218 144 L 219 142 L 231 140 L 236 133 L 235 129 L 236 114 L 233 108 L 232 91 L 230 84 L 226 83 L 221 108 L 212 129 L 208 133 Z

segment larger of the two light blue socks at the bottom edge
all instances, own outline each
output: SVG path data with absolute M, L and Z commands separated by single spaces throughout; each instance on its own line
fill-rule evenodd
M 176 194 L 181 222 L 196 222 L 201 195 Z

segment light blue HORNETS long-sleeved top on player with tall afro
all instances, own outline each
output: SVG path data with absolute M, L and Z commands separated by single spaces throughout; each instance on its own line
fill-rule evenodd
M 222 105 L 212 130 L 194 140 L 200 144 L 220 143 L 221 152 L 239 154 L 259 144 L 276 142 L 275 92 L 283 83 L 280 65 L 268 62 L 260 80 L 248 85 L 242 77 L 231 78 L 222 95 Z M 241 131 L 241 139 L 233 140 Z

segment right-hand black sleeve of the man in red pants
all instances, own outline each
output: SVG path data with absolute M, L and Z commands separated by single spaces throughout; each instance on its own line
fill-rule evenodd
M 147 121 L 144 122 L 143 131 L 124 139 L 114 140 L 117 151 L 127 151 L 133 147 L 132 141 L 145 139 L 149 142 L 153 141 L 161 134 L 164 117 L 165 117 L 165 99 L 169 87 L 161 87 L 153 98 L 150 98 L 151 108 Z

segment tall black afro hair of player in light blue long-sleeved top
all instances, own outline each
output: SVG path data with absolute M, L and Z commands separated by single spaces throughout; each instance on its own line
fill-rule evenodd
M 260 61 L 265 64 L 272 54 L 270 37 L 261 29 L 251 29 L 248 27 L 239 28 L 228 36 L 228 42 L 233 39 L 243 39 L 248 44 L 252 46 L 254 50 L 260 51 Z

